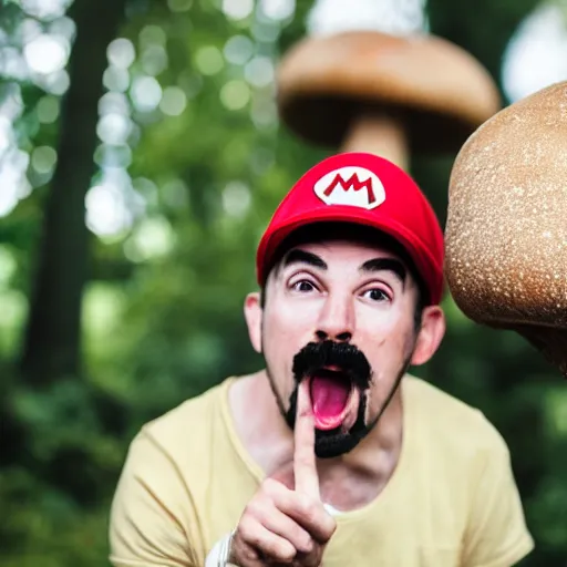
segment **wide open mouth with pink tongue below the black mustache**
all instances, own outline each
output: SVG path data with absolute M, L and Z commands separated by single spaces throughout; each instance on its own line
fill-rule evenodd
M 355 420 L 360 391 L 349 374 L 337 367 L 326 367 L 312 372 L 308 380 L 316 427 L 350 429 Z

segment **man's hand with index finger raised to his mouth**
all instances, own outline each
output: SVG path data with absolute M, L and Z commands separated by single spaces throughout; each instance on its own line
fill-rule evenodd
M 318 567 L 337 528 L 319 493 L 315 421 L 309 383 L 301 382 L 295 427 L 295 491 L 267 478 L 246 506 L 233 538 L 230 563 L 239 567 Z

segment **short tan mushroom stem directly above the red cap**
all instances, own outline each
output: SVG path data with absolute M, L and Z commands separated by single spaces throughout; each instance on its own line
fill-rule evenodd
M 369 152 L 408 171 L 408 137 L 402 121 L 386 114 L 360 114 L 344 137 L 343 152 Z

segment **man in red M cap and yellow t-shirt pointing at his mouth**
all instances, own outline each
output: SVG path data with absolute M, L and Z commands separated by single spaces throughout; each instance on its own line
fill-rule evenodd
M 266 369 L 143 427 L 111 514 L 125 566 L 509 567 L 507 446 L 406 373 L 445 331 L 443 236 L 414 182 L 332 156 L 276 210 L 245 316 Z

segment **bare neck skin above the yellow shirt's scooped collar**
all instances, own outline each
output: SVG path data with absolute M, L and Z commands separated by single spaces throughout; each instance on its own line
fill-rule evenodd
M 235 426 L 244 446 L 267 476 L 276 476 L 291 485 L 292 478 L 289 475 L 292 474 L 293 432 L 281 416 L 266 372 L 239 379 L 231 388 L 229 400 Z M 347 480 L 367 487 L 367 496 L 362 499 L 374 497 L 385 486 L 398 464 L 402 434 L 400 386 L 379 423 L 357 447 L 336 458 L 318 460 L 323 498 L 334 504 L 337 496 L 333 493 Z

